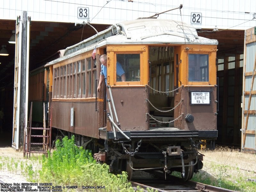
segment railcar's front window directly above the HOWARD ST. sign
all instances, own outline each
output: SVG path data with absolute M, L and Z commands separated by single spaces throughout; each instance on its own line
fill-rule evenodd
M 188 81 L 209 81 L 208 54 L 189 54 Z

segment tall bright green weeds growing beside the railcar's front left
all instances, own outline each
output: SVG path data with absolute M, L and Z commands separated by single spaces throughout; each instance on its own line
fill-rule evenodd
M 108 172 L 107 164 L 97 164 L 89 150 L 75 145 L 74 135 L 71 139 L 64 137 L 56 141 L 56 150 L 42 160 L 39 171 L 40 182 L 61 186 L 92 186 L 94 191 L 134 191 L 127 182 L 127 174 L 113 175 Z M 101 186 L 97 189 L 97 186 Z M 103 189 L 102 189 L 103 188 Z

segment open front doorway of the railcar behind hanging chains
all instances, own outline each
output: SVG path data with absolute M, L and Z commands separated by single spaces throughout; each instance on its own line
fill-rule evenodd
M 151 63 L 151 75 L 149 86 L 149 100 L 153 106 L 164 111 L 174 107 L 174 48 L 152 46 L 149 49 L 149 62 Z M 157 90 L 157 91 L 155 91 Z M 173 110 L 161 112 L 150 105 L 150 115 L 162 121 L 169 118 L 173 120 Z M 166 125 L 166 124 L 165 124 Z M 157 122 L 157 126 L 165 126 Z M 168 125 L 173 127 L 173 125 Z

